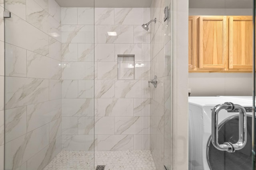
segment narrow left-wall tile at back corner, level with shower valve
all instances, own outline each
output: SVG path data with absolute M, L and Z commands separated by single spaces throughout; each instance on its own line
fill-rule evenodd
M 49 80 L 49 100 L 61 98 L 62 80 Z

